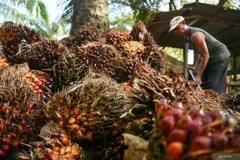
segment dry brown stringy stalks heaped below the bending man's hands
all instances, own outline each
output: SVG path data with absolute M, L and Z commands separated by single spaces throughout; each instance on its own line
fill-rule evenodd
M 133 88 L 137 95 L 141 95 L 139 100 L 145 103 L 153 102 L 154 99 L 166 98 L 188 105 L 198 104 L 205 110 L 220 110 L 222 108 L 220 96 L 211 91 L 205 91 L 204 94 L 196 91 L 189 82 L 184 80 L 182 75 L 174 71 L 166 70 L 160 73 L 143 65 L 139 68 L 141 69 L 136 71 L 140 72 L 135 73 Z

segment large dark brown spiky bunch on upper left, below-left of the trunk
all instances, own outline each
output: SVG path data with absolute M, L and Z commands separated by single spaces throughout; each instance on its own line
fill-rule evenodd
M 28 62 L 32 70 L 39 70 L 47 73 L 47 83 L 52 84 L 52 92 L 61 90 L 76 80 L 79 69 L 75 62 L 75 55 L 70 53 L 68 48 L 56 40 L 41 40 L 36 43 L 22 43 L 19 47 L 18 56 Z

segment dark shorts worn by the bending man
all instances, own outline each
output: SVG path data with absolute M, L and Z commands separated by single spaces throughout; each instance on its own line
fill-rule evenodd
M 201 77 L 203 89 L 213 90 L 219 94 L 225 93 L 228 62 L 229 58 L 207 64 Z

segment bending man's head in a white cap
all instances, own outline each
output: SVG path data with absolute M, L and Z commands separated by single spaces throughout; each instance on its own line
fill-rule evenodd
M 185 34 L 185 20 L 182 16 L 173 17 L 170 21 L 170 29 L 168 32 L 174 31 L 177 35 L 181 36 Z

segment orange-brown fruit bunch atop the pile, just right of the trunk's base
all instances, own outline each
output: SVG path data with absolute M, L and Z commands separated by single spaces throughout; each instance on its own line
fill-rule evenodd
M 123 33 L 111 28 L 102 33 L 101 39 L 104 43 L 115 46 L 117 49 L 121 49 L 121 44 L 132 40 L 132 36 L 128 33 Z

